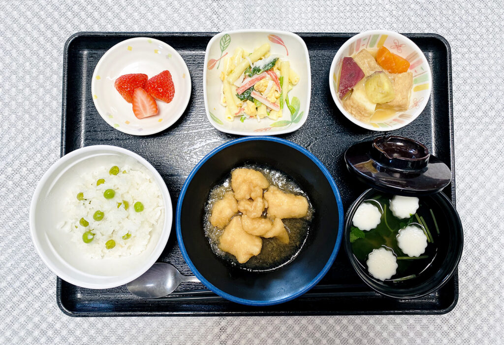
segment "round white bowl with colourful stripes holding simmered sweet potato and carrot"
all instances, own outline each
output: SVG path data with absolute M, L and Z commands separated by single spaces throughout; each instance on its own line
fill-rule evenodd
M 341 62 L 344 57 L 351 56 L 361 49 L 380 48 L 382 45 L 391 52 L 404 57 L 411 64 L 409 72 L 413 73 L 413 90 L 410 104 L 408 110 L 398 112 L 395 117 L 388 121 L 379 123 L 359 121 L 343 108 L 343 103 L 338 97 L 338 78 Z M 329 88 L 334 102 L 348 120 L 368 130 L 392 131 L 410 124 L 423 111 L 429 100 L 432 76 L 425 55 L 409 38 L 394 31 L 370 30 L 353 36 L 338 49 L 329 72 Z

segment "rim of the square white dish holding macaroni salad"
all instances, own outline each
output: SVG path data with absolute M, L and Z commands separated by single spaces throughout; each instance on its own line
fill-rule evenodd
M 306 79 L 306 85 L 307 85 L 307 93 L 306 93 L 306 101 L 305 101 L 305 110 L 302 118 L 298 123 L 295 124 L 293 127 L 288 127 L 284 130 L 279 130 L 275 132 L 268 132 L 268 135 L 280 135 L 280 134 L 286 134 L 286 133 L 291 133 L 294 131 L 297 131 L 299 128 L 301 128 L 306 120 L 308 119 L 308 112 L 309 112 L 309 107 L 310 107 L 310 100 L 311 100 L 311 67 L 310 67 L 310 59 L 308 55 L 308 48 L 306 47 L 306 43 L 304 40 L 297 34 L 290 32 L 290 31 L 282 31 L 282 30 L 268 30 L 268 29 L 241 29 L 241 30 L 229 30 L 229 31 L 222 31 L 217 34 L 215 34 L 210 41 L 207 44 L 207 48 L 205 51 L 205 61 L 203 64 L 203 99 L 205 103 L 205 112 L 207 113 L 207 119 L 208 121 L 212 124 L 212 126 L 224 133 L 229 133 L 229 134 L 234 134 L 234 135 L 241 135 L 241 136 L 264 136 L 266 135 L 263 131 L 245 131 L 245 130 L 232 130 L 232 129 L 227 129 L 225 127 L 218 127 L 216 123 L 213 120 L 213 116 L 210 113 L 210 107 L 208 104 L 208 96 L 207 96 L 207 73 L 208 73 L 208 62 L 209 62 L 209 55 L 210 55 L 210 48 L 214 44 L 214 42 L 218 39 L 220 39 L 224 35 L 231 35 L 231 34 L 240 34 L 240 33 L 268 33 L 268 34 L 274 34 L 274 35 L 287 35 L 290 36 L 300 42 L 302 45 L 303 52 L 304 52 L 304 57 L 305 57 L 305 63 L 306 63 L 306 68 L 308 70 L 308 75 Z

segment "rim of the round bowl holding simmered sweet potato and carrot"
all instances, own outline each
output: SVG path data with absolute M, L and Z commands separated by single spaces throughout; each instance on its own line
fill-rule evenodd
M 344 51 L 346 49 L 348 49 L 348 47 L 355 42 L 355 40 L 359 39 L 359 38 L 364 38 L 366 36 L 371 36 L 371 35 L 387 35 L 387 36 L 400 36 L 407 44 L 408 46 L 412 47 L 413 50 L 418 53 L 418 59 L 420 59 L 422 61 L 422 63 L 420 64 L 421 65 L 424 65 L 427 67 L 427 70 L 426 70 L 426 73 L 427 73 L 427 76 L 428 76 L 428 88 L 427 88 L 427 93 L 428 93 L 428 96 L 427 97 L 423 97 L 424 99 L 421 100 L 418 104 L 418 107 L 416 108 L 415 111 L 412 112 L 412 115 L 410 117 L 410 119 L 408 120 L 405 120 L 403 121 L 402 123 L 397 123 L 397 125 L 395 125 L 394 127 L 391 127 L 391 126 L 386 126 L 386 127 L 375 127 L 373 125 L 371 125 L 370 123 L 365 123 L 365 122 L 362 122 L 360 120 L 357 120 L 356 118 L 354 118 L 352 116 L 352 114 L 350 114 L 348 111 L 346 111 L 344 108 L 343 108 L 343 104 L 341 103 L 341 100 L 339 99 L 338 97 L 338 93 L 337 93 L 337 90 L 335 89 L 335 82 L 334 82 L 334 74 L 336 73 L 336 66 L 338 65 L 338 61 L 340 59 L 340 57 L 342 57 L 343 55 L 344 56 L 347 56 L 346 54 L 344 54 Z M 359 49 L 360 50 L 360 49 Z M 415 76 L 413 76 L 413 79 L 415 78 Z M 430 66 L 429 66 L 429 63 L 425 57 L 425 54 L 423 53 L 423 51 L 418 47 L 418 45 L 416 45 L 411 39 L 409 39 L 408 37 L 396 32 L 396 31 L 391 31 L 391 30 L 368 30 L 368 31 L 364 31 L 364 32 L 361 32 L 359 34 L 356 34 L 352 37 L 350 37 L 345 43 L 343 43 L 343 45 L 338 49 L 338 51 L 336 52 L 336 54 L 334 55 L 334 59 L 333 59 L 333 62 L 331 63 L 331 70 L 329 71 L 329 88 L 331 90 L 331 95 L 333 96 L 333 100 L 334 102 L 336 103 L 336 106 L 338 107 L 338 109 L 341 111 L 341 113 L 343 113 L 343 115 L 348 119 L 350 120 L 351 122 L 353 122 L 355 125 L 361 127 L 361 128 L 364 128 L 364 129 L 368 129 L 368 130 L 371 130 L 371 131 L 377 131 L 377 132 L 386 132 L 386 131 L 392 131 L 392 130 L 396 130 L 396 129 L 399 129 L 399 128 L 402 128 L 406 125 L 409 125 L 410 123 L 412 123 L 416 118 L 418 118 L 418 116 L 422 113 L 423 109 L 425 109 L 425 106 L 427 105 L 427 102 L 429 100 L 429 97 L 430 97 L 430 92 L 432 90 L 432 73 L 430 71 Z M 413 93 L 413 90 L 412 90 L 412 93 Z M 410 104 L 411 104 L 411 100 L 410 100 Z M 409 110 L 409 109 L 408 109 Z

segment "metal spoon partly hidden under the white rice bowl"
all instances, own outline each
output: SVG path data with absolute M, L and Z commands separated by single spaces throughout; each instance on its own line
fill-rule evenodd
M 194 275 L 182 275 L 171 264 L 156 262 L 137 279 L 126 284 L 128 291 L 143 298 L 159 298 L 171 294 L 182 281 L 200 280 Z

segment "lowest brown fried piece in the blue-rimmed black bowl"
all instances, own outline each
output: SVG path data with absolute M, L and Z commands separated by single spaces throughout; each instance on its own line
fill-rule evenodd
M 245 263 L 251 257 L 261 253 L 263 240 L 246 233 L 241 226 L 241 216 L 235 216 L 219 237 L 219 248 L 234 255 L 239 263 Z

